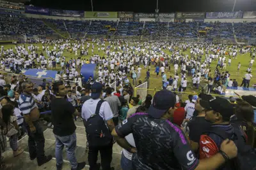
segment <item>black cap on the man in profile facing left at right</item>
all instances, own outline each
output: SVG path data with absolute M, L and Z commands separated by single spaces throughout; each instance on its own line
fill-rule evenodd
M 222 117 L 230 118 L 234 115 L 234 106 L 222 97 L 213 97 L 209 101 L 200 100 L 200 105 L 205 110 L 213 110 L 221 114 Z

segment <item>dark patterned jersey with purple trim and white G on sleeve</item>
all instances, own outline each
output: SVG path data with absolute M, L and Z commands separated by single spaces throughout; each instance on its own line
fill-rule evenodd
M 121 138 L 133 134 L 137 153 L 132 155 L 134 169 L 196 169 L 199 160 L 191 150 L 184 132 L 169 120 L 147 113 L 134 113 L 115 127 Z

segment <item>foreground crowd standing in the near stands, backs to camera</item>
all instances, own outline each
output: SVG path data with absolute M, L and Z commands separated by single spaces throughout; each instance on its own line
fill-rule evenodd
M 133 96 L 129 83 L 115 91 L 92 80 L 83 87 L 43 81 L 35 89 L 25 76 L 12 79 L 19 83 L 12 86 L 0 81 L 1 153 L 6 150 L 7 136 L 13 156 L 18 157 L 24 150 L 17 140 L 28 134 L 30 159 L 36 159 L 38 166 L 49 162 L 52 156 L 44 154 L 40 125 L 41 120 L 48 120 L 56 138 L 56 168 L 62 169 L 65 146 L 72 170 L 83 169 L 86 163 L 77 163 L 75 155 L 74 122 L 81 117 L 86 128 L 90 169 L 113 169 L 115 142 L 124 148 L 120 162 L 124 170 L 255 167 L 255 156 L 250 152 L 256 146 L 254 96 L 230 97 L 228 101 L 199 94 L 182 101 L 164 89 L 154 97 L 148 94 L 141 102 L 140 96 Z M 47 115 L 43 114 L 45 111 Z M 101 164 L 97 164 L 98 152 Z M 1 169 L 4 168 L 1 159 Z

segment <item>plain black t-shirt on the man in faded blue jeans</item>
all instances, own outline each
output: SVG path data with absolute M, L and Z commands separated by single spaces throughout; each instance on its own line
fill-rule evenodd
M 72 114 L 76 108 L 66 99 L 56 98 L 51 103 L 53 133 L 58 136 L 68 136 L 76 131 Z

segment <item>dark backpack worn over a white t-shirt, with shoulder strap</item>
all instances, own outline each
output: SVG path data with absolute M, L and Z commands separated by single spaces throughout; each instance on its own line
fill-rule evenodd
M 95 114 L 88 118 L 85 124 L 86 137 L 90 146 L 106 146 L 113 139 L 105 120 L 99 115 L 100 106 L 104 102 L 104 100 L 98 102 Z

